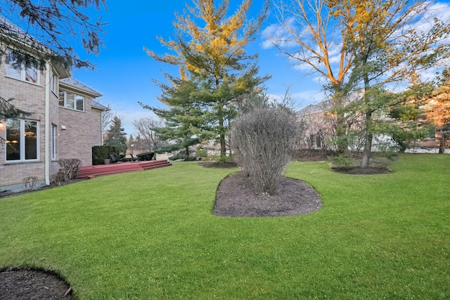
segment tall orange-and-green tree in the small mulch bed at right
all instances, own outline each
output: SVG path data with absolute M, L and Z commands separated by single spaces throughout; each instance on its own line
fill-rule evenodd
M 372 141 L 383 126 L 377 123 L 395 105 L 395 97 L 384 86 L 396 82 L 418 82 L 423 70 L 446 62 L 450 44 L 446 37 L 450 25 L 444 20 L 427 20 L 429 1 L 347 1 L 333 8 L 344 24 L 354 27 L 347 37 L 347 51 L 354 55 L 352 72 L 343 86 L 345 93 L 364 89 L 359 107 L 347 106 L 345 112 L 362 115 L 364 152 L 361 167 L 367 168 Z M 349 12 L 354 15 L 349 16 Z M 432 29 L 423 30 L 432 22 Z M 422 26 L 418 26 L 418 24 Z M 428 25 L 427 25 L 428 26 Z M 356 110 L 355 110 L 356 108 Z

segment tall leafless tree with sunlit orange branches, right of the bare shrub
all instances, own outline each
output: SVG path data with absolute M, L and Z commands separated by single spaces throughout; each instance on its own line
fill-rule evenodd
M 264 30 L 281 53 L 293 65 L 300 65 L 308 74 L 317 73 L 325 79 L 325 90 L 330 92 L 330 109 L 333 109 L 333 133 L 338 152 L 348 152 L 346 115 L 342 111 L 345 94 L 341 86 L 352 70 L 354 53 L 348 51 L 347 37 L 354 22 L 341 22 L 333 11 L 334 1 L 274 1 L 278 25 Z M 349 18 L 354 14 L 349 11 Z M 338 63 L 335 63 L 335 60 Z

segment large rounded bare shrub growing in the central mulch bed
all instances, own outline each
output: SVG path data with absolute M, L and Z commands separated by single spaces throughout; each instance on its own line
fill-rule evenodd
M 274 195 L 297 138 L 293 112 L 257 107 L 241 115 L 231 129 L 235 159 L 257 193 Z

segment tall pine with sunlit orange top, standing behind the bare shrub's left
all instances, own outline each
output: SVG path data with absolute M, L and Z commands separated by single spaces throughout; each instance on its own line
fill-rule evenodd
M 179 79 L 167 74 L 171 86 L 159 84 L 163 93 L 159 100 L 169 110 L 144 106 L 168 120 L 168 130 L 162 134 L 182 136 L 184 141 L 193 135 L 201 140 L 217 138 L 221 156 L 226 155 L 226 132 L 237 116 L 235 102 L 269 78 L 257 76 L 256 56 L 245 53 L 268 8 L 264 4 L 256 22 L 250 22 L 251 4 L 243 0 L 236 13 L 229 15 L 227 0 L 218 7 L 213 0 L 194 0 L 193 6 L 186 5 L 182 14 L 176 14 L 174 39 L 159 38 L 175 54 L 160 56 L 147 49 L 155 60 L 181 70 Z M 189 118 L 194 122 L 188 122 Z

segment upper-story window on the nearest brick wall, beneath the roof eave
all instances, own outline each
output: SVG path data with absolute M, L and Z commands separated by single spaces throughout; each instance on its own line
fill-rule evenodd
M 6 75 L 37 84 L 38 74 L 37 63 L 25 63 L 17 53 L 6 51 Z

